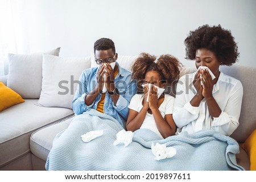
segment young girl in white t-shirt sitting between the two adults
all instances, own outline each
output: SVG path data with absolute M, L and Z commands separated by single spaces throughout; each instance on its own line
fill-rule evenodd
M 179 78 L 179 68 L 180 62 L 170 54 L 158 59 L 148 53 L 139 55 L 131 70 L 138 87 L 142 88 L 144 83 L 144 93 L 134 95 L 130 101 L 127 130 L 134 132 L 146 128 L 162 138 L 175 134 L 176 125 L 172 118 L 174 97 L 158 95 L 158 90 Z

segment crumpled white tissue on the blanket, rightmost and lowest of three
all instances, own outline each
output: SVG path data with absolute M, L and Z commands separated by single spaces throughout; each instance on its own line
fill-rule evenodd
M 161 160 L 165 158 L 171 158 L 172 156 L 176 155 L 176 149 L 174 147 L 166 147 L 166 143 L 160 144 L 154 143 L 151 144 L 151 151 L 155 155 L 155 160 Z

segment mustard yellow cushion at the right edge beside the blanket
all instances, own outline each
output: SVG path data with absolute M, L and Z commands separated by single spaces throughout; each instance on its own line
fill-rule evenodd
M 245 143 L 242 145 L 243 149 L 246 150 L 250 158 L 250 170 L 256 170 L 256 129 L 250 136 L 246 139 Z

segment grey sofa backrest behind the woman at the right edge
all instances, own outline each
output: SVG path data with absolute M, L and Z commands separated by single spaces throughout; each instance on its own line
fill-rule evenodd
M 234 64 L 233 66 L 221 66 L 220 71 L 238 79 L 243 85 L 243 100 L 240 125 L 230 136 L 238 142 L 245 142 L 246 138 L 256 129 L 256 67 Z

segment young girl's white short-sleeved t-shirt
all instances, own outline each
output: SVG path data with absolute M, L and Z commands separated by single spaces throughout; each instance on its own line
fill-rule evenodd
M 134 111 L 141 111 L 143 105 L 142 105 L 142 100 L 144 99 L 144 94 L 136 94 L 131 98 L 130 105 L 128 106 L 129 109 L 133 109 Z M 164 118 L 165 115 L 170 115 L 172 114 L 172 111 L 174 109 L 174 97 L 171 95 L 164 95 L 164 101 L 163 103 L 159 106 L 159 111 Z M 150 129 L 152 132 L 155 132 L 158 134 L 160 137 L 162 135 L 160 134 L 156 123 L 154 116 L 151 115 L 150 113 L 146 113 L 145 119 L 142 122 L 141 128 L 145 129 Z

